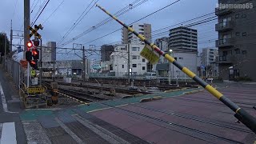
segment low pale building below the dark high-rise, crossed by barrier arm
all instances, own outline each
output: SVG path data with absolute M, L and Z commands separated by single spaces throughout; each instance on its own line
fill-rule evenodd
M 188 51 L 178 51 L 173 50 L 170 55 L 174 57 L 178 63 L 182 66 L 186 66 L 188 69 L 193 71 L 195 74 L 197 73 L 197 63 L 198 56 L 197 52 L 188 52 Z M 158 76 L 160 77 L 168 77 L 170 79 L 190 79 L 186 74 L 179 70 L 178 67 L 174 66 L 170 62 L 165 62 L 158 64 L 156 66 L 156 71 Z

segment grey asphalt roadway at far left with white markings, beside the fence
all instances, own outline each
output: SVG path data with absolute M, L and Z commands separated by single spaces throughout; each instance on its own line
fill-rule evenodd
M 19 118 L 22 107 L 18 90 L 15 89 L 11 78 L 4 72 L 2 66 L 0 66 L 0 94 L 0 143 L 26 143 L 26 135 Z

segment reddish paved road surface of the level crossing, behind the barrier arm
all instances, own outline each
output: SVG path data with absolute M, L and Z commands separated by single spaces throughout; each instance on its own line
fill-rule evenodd
M 256 116 L 256 110 L 252 109 L 253 104 L 256 103 L 255 88 L 256 86 L 249 86 L 246 89 L 244 86 L 230 86 L 220 89 L 220 91 L 223 90 L 223 94 L 234 102 L 240 102 L 239 106 L 246 107 L 247 112 Z M 241 93 L 238 93 L 237 91 L 240 90 Z M 255 100 L 249 98 L 255 98 Z M 129 111 L 135 114 L 130 114 Z M 181 118 L 171 115 L 171 113 L 199 118 L 199 120 L 214 122 L 219 125 Z M 93 112 L 93 114 L 146 141 L 156 143 L 254 143 L 256 136 L 242 123 L 235 123 L 237 119 L 234 118 L 234 112 L 207 92 L 100 110 Z M 150 118 L 156 119 L 150 120 Z M 163 122 L 186 126 L 192 131 L 172 125 L 166 126 Z M 193 130 L 199 130 L 202 134 Z

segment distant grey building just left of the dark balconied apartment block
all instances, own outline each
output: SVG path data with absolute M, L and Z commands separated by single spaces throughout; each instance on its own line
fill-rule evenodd
M 216 63 L 216 58 L 218 58 L 218 49 L 216 48 L 202 48 L 201 54 L 201 66 L 205 67 L 206 77 L 216 77 L 218 76 L 218 64 Z

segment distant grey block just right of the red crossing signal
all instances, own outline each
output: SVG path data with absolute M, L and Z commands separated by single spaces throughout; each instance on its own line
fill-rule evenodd
M 47 42 L 42 48 L 42 62 L 56 61 L 56 42 Z

